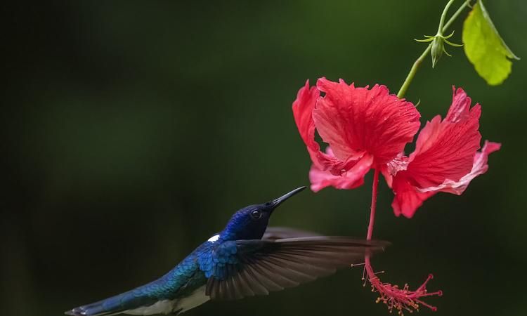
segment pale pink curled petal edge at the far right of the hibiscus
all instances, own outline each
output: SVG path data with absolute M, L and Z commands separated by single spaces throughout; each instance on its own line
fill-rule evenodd
M 476 176 L 479 176 L 483 173 L 486 173 L 488 170 L 488 155 L 492 152 L 495 152 L 497 150 L 500 150 L 501 144 L 500 143 L 493 143 L 489 142 L 488 140 L 485 141 L 485 144 L 483 145 L 483 149 L 481 152 L 476 152 L 474 155 L 474 164 L 472 166 L 472 170 L 467 173 L 465 176 L 463 176 L 459 181 L 453 181 L 450 179 L 445 180 L 444 183 L 441 185 L 438 185 L 436 187 L 426 187 L 426 188 L 419 188 L 419 192 L 448 192 L 452 193 L 454 195 L 461 195 L 464 190 L 467 190 L 467 186 L 469 185 L 470 181 Z

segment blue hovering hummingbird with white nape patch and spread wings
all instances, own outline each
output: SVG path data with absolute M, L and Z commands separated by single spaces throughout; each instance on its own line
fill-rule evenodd
M 268 227 L 273 211 L 306 187 L 234 213 L 226 227 L 159 279 L 65 312 L 72 316 L 180 314 L 209 300 L 267 295 L 330 275 L 386 242 Z

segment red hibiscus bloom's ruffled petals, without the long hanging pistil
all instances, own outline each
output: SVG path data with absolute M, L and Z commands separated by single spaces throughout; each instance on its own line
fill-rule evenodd
M 320 92 L 325 96 L 320 96 Z M 294 119 L 313 161 L 311 190 L 353 189 L 370 169 L 379 169 L 393 189 L 396 216 L 411 218 L 436 192 L 460 195 L 470 181 L 488 169 L 488 154 L 500 144 L 486 142 L 481 152 L 481 106 L 470 107 L 462 88 L 454 89 L 450 110 L 427 122 L 415 151 L 403 149 L 419 129 L 419 112 L 412 103 L 390 95 L 385 86 L 356 88 L 325 78 L 316 87 L 308 82 L 293 103 Z M 328 144 L 324 152 L 315 131 Z

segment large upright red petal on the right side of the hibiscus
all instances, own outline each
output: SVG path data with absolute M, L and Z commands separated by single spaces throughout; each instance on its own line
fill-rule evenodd
M 443 121 L 434 117 L 419 133 L 407 169 L 412 185 L 433 187 L 469 173 L 481 140 L 481 107 L 470 108 L 470 103 L 467 94 L 457 89 L 447 117 Z

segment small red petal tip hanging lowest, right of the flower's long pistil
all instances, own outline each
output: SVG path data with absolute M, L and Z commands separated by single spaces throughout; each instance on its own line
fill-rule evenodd
M 406 171 L 397 173 L 392 183 L 393 202 L 391 207 L 396 216 L 403 214 L 406 218 L 414 216 L 415 211 L 421 206 L 424 200 L 428 199 L 436 192 L 419 192 L 416 187 L 410 184 L 406 177 Z

